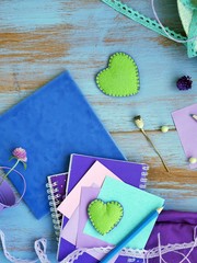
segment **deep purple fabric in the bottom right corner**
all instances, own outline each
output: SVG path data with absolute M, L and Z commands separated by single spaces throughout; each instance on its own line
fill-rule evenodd
M 165 210 L 163 211 L 153 228 L 153 231 L 148 240 L 146 249 L 152 249 L 158 245 L 158 233 L 160 233 L 161 245 L 169 243 L 189 243 L 195 238 L 195 227 L 197 226 L 197 213 Z M 183 249 L 177 252 L 169 252 L 162 255 L 167 263 L 178 263 L 187 255 L 190 249 Z M 179 254 L 183 253 L 183 254 Z M 190 252 L 183 263 L 197 262 L 197 248 Z M 161 262 L 164 262 L 161 261 Z M 151 259 L 149 263 L 159 263 L 159 259 Z

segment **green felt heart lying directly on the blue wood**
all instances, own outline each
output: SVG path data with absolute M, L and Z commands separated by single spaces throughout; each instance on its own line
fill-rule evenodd
M 135 95 L 139 92 L 138 67 L 127 54 L 115 53 L 109 57 L 108 67 L 96 76 L 96 83 L 106 95 Z

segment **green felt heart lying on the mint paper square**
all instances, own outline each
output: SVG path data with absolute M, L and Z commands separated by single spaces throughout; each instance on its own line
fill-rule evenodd
M 104 203 L 102 199 L 94 199 L 88 207 L 89 218 L 95 230 L 105 235 L 120 221 L 124 214 L 123 206 L 116 202 Z

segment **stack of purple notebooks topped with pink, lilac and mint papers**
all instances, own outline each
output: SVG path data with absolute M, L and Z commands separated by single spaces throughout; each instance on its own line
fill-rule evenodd
M 60 205 L 53 204 L 53 210 L 57 211 L 55 215 L 63 215 L 58 261 L 63 261 L 76 249 L 117 244 L 140 220 L 163 205 L 162 198 L 142 191 L 146 187 L 148 169 L 144 163 L 71 155 L 67 183 L 65 181 L 60 185 L 61 175 L 55 176 L 56 186 L 60 185 L 59 195 L 61 188 L 66 188 L 63 202 Z M 48 180 L 51 181 L 51 176 L 48 176 Z M 95 198 L 104 202 L 117 201 L 124 207 L 121 221 L 105 236 L 94 229 L 88 217 L 88 205 Z M 143 249 L 154 222 L 134 239 L 128 248 Z M 77 262 L 94 263 L 103 256 L 103 253 L 89 252 L 81 255 Z M 121 258 L 118 256 L 116 261 L 124 262 L 125 258 Z

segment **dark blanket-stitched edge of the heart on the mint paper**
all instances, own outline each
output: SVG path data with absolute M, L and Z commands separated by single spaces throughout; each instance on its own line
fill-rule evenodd
M 101 203 L 103 203 L 103 204 L 116 204 L 116 205 L 120 208 L 120 213 L 121 213 L 121 214 L 120 214 L 120 216 L 119 216 L 119 219 L 116 221 L 116 224 L 112 225 L 111 229 L 109 229 L 106 233 L 108 233 L 109 231 L 112 231 L 112 230 L 119 224 L 119 221 L 121 220 L 121 218 L 123 218 L 123 216 L 124 216 L 124 208 L 123 208 L 121 204 L 120 204 L 119 202 L 117 202 L 117 201 L 103 202 L 102 199 L 96 198 L 96 199 L 92 201 L 92 202 L 89 204 L 89 206 L 88 206 L 88 215 L 89 215 L 90 221 L 91 221 L 92 226 L 94 227 L 94 229 L 95 229 L 99 233 L 101 233 L 102 236 L 104 236 L 105 233 L 101 232 L 100 229 L 96 228 L 96 226 L 94 225 L 94 221 L 93 221 L 93 219 L 92 219 L 92 217 L 91 217 L 91 215 L 90 215 L 90 207 L 91 207 L 94 203 L 96 203 L 96 202 L 101 202 Z

